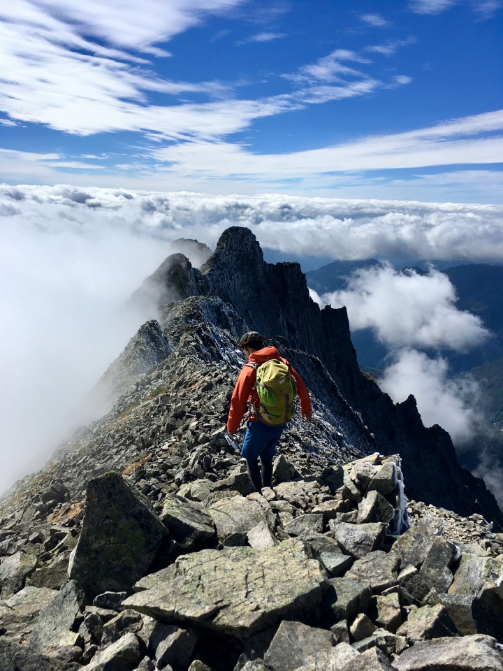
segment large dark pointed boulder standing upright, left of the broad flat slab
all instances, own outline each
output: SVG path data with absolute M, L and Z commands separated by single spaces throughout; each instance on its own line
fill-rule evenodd
M 147 572 L 167 535 L 150 503 L 115 472 L 87 486 L 85 517 L 70 569 L 92 600 L 131 589 Z

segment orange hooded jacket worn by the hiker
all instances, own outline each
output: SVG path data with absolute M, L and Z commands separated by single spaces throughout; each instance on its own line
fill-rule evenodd
M 270 361 L 270 359 L 278 359 L 279 361 L 286 363 L 286 366 L 289 366 L 293 380 L 296 381 L 297 385 L 297 391 L 300 398 L 300 411 L 302 414 L 310 414 L 312 412 L 311 399 L 309 398 L 309 392 L 307 391 L 304 380 L 302 380 L 302 377 L 300 377 L 297 371 L 290 366 L 286 359 L 279 356 L 276 347 L 263 347 L 262 349 L 258 349 L 257 352 L 252 352 L 249 355 L 248 361 L 250 363 L 258 363 L 258 366 L 260 366 L 261 363 Z M 227 419 L 227 429 L 229 433 L 235 433 L 238 429 L 243 415 L 247 410 L 249 400 L 251 400 L 256 407 L 259 407 L 260 401 L 258 400 L 258 394 L 256 393 L 256 389 L 253 389 L 255 382 L 256 370 L 251 368 L 251 366 L 244 366 L 238 377 L 238 382 L 236 382 L 231 398 L 231 410 L 229 410 Z M 250 419 L 251 421 L 257 421 L 254 417 L 250 417 Z

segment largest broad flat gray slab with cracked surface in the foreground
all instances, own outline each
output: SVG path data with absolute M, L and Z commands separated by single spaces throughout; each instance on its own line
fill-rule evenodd
M 305 544 L 287 540 L 261 550 L 236 547 L 179 557 L 172 579 L 124 605 L 245 639 L 286 616 L 307 616 L 325 588 L 321 566 Z

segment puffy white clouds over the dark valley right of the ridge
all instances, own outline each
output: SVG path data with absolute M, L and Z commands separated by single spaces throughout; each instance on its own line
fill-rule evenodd
M 391 363 L 379 387 L 395 403 L 414 394 L 425 426 L 440 424 L 456 445 L 473 438 L 481 421 L 478 384 L 452 379 L 442 356 L 421 351 L 466 352 L 490 337 L 479 317 L 455 307 L 455 288 L 446 275 L 401 273 L 384 264 L 357 270 L 347 289 L 311 294 L 321 305 L 346 305 L 351 331 L 371 328 L 386 345 Z

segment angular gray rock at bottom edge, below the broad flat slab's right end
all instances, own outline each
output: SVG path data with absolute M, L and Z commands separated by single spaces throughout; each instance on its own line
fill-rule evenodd
M 283 621 L 276 632 L 264 663 L 272 671 L 294 671 L 309 657 L 332 648 L 332 633 L 300 622 Z

